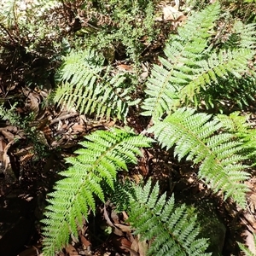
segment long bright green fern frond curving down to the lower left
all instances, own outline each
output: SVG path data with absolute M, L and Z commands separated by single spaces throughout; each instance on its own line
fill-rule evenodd
M 80 143 L 84 148 L 77 150 L 76 157 L 67 158 L 70 166 L 61 172 L 64 179 L 50 193 L 48 212 L 44 227 L 44 255 L 52 256 L 65 246 L 69 234 L 78 236 L 78 225 L 87 218 L 91 209 L 96 210 L 95 196 L 104 201 L 102 182 L 111 189 L 116 173 L 127 170 L 127 163 L 136 163 L 141 147 L 148 147 L 153 140 L 132 131 L 113 129 L 95 131 Z

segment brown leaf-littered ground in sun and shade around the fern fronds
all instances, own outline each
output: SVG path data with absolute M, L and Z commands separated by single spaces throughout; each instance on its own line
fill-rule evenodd
M 182 13 L 178 15 L 171 20 L 172 29 L 176 29 L 184 18 Z M 163 42 L 157 43 L 151 49 L 150 46 L 147 48 L 149 54 L 147 61 L 143 62 L 143 79 L 148 76 L 148 67 L 162 53 Z M 33 60 L 35 66 L 26 69 L 22 63 L 27 63 L 27 55 L 24 55 L 25 60 L 20 60 L 19 56 L 15 61 L 16 53 L 15 48 L 10 48 L 9 55 L 4 56 L 5 62 L 0 63 L 0 102 L 4 102 L 6 108 L 18 102 L 13 108 L 16 113 L 15 117 L 12 116 L 13 122 L 8 118 L 0 121 L 0 255 L 35 256 L 42 253 L 40 220 L 44 218 L 47 205 L 45 198 L 55 181 L 60 179 L 58 173 L 67 168 L 65 158 L 73 155 L 79 148 L 78 143 L 90 131 L 119 124 L 95 121 L 74 109 L 60 109 L 47 104 L 48 96 L 55 88 L 53 77 L 44 77 L 48 71 L 47 60 L 37 59 L 37 63 Z M 117 61 L 116 67 L 132 72 L 132 67 L 125 61 Z M 44 89 L 37 85 L 26 86 L 24 76 L 29 73 L 35 81 L 44 79 Z M 128 119 L 128 122 L 138 133 L 148 125 L 148 119 L 143 117 Z M 252 114 L 249 122 L 255 123 Z M 233 201 L 224 201 L 222 195 L 213 194 L 197 178 L 196 168 L 191 167 L 190 162 L 178 162 L 169 157 L 170 154 L 157 147 L 143 149 L 138 165 L 131 167 L 129 172 L 121 172 L 119 177 L 129 177 L 137 183 L 152 178 L 160 182 L 162 192 L 167 195 L 174 193 L 177 203 L 211 205 L 212 211 L 216 212 L 214 218 L 224 226 L 224 234 L 219 241 L 222 254 L 239 255 L 237 241 L 246 244 L 256 254 L 253 247 L 253 234 L 256 233 L 255 175 L 252 174 L 247 181 L 250 192 L 247 194 L 247 207 L 242 210 Z M 126 219 L 126 212 L 115 212 L 111 203 L 100 205 L 96 216 L 90 215 L 90 224 L 84 222 L 79 238 L 72 237 L 69 245 L 56 256 L 143 256 L 148 243 L 132 235 Z

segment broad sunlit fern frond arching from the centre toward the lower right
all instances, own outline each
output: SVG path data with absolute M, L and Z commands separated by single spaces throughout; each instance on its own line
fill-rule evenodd
M 241 165 L 246 157 L 239 154 L 241 143 L 230 133 L 221 132 L 221 122 L 194 109 L 179 108 L 175 113 L 158 121 L 148 132 L 154 132 L 163 147 L 175 145 L 178 159 L 185 157 L 200 163 L 199 177 L 210 183 L 212 189 L 224 192 L 224 199 L 231 196 L 245 206 L 247 186 L 242 183 L 249 177 Z

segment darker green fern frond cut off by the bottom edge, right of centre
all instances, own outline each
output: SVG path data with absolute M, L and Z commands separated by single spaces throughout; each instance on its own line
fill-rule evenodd
M 174 197 L 166 201 L 157 183 L 151 190 L 151 181 L 135 188 L 131 196 L 128 221 L 143 240 L 152 241 L 147 255 L 211 255 L 205 253 L 207 239 L 196 239 L 199 226 L 196 215 L 189 218 L 186 206 L 174 207 Z

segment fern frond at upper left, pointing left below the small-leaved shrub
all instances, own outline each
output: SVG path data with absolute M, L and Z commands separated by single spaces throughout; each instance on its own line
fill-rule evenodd
M 59 73 L 61 86 L 55 91 L 55 102 L 67 104 L 80 113 L 94 113 L 96 119 L 124 119 L 130 106 L 140 100 L 132 99 L 126 74 L 112 75 L 103 66 L 104 59 L 96 52 L 71 52 Z

